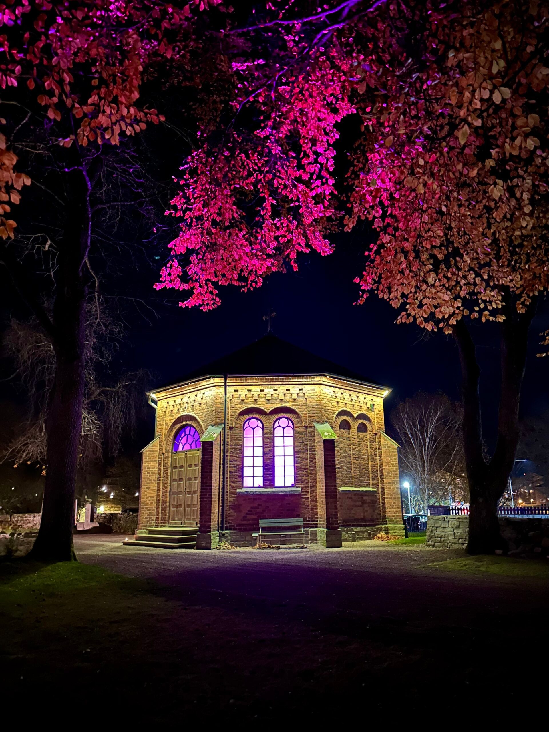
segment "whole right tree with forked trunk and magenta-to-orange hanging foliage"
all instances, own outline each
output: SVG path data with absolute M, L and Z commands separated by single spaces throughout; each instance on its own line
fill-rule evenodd
M 234 99 L 203 127 L 173 200 L 182 229 L 157 287 L 182 305 L 261 285 L 329 254 L 327 235 L 378 232 L 356 282 L 455 338 L 471 491 L 469 553 L 504 548 L 496 516 L 518 444 L 529 326 L 547 290 L 548 5 L 530 0 L 348 0 L 279 11 L 225 33 Z M 241 39 L 245 38 L 247 45 Z M 344 118 L 355 132 L 336 181 Z M 483 452 L 471 323 L 501 333 L 496 447 Z

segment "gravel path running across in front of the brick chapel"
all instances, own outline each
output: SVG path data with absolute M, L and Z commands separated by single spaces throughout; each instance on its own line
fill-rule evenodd
M 425 547 L 356 542 L 340 549 L 162 550 L 123 547 L 118 536 L 75 541 L 81 561 L 126 575 L 157 580 L 187 606 L 222 603 L 231 610 L 298 614 L 353 621 L 471 627 L 504 616 L 542 612 L 545 586 L 497 575 L 448 574 L 427 565 L 459 556 Z M 285 613 L 283 613 L 285 614 Z

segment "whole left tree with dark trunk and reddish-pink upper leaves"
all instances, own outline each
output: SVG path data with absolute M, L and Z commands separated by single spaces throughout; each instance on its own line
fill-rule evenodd
M 139 103 L 147 78 L 172 64 L 188 75 L 192 11 L 218 0 L 10 0 L 1 13 L 0 262 L 48 335 L 55 359 L 45 422 L 47 474 L 42 523 L 32 554 L 70 560 L 75 474 L 85 395 L 86 302 L 99 291 L 91 262 L 112 232 L 100 224 L 126 206 L 146 206 L 132 138 L 163 117 Z M 119 184 L 119 171 L 129 179 Z M 32 179 L 32 182 L 31 182 Z M 28 185 L 39 196 L 27 193 Z M 45 197 L 48 210 L 40 197 Z M 39 198 L 39 201 L 37 201 Z M 12 204 L 32 201 L 27 220 L 45 227 L 15 238 Z M 126 208 L 125 210 L 130 210 Z M 39 215 L 40 214 L 40 215 Z M 51 234 L 53 228 L 55 236 Z M 43 230 L 42 230 L 43 231 Z M 40 232 L 40 228 L 38 228 Z M 115 246 L 119 242 L 112 242 Z M 50 257 L 55 283 L 48 313 L 36 277 L 21 260 Z M 46 254 L 45 254 L 46 253 Z

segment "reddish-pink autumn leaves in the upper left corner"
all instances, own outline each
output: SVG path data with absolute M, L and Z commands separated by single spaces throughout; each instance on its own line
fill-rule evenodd
M 25 97 L 56 123 L 52 143 L 118 145 L 163 116 L 139 102 L 141 84 L 158 64 L 185 64 L 191 47 L 187 26 L 193 12 L 220 0 L 181 4 L 158 0 L 7 0 L 0 6 L 0 89 L 3 101 Z M 11 92 L 11 93 L 10 93 Z M 4 122 L 3 120 L 0 122 Z M 0 201 L 18 203 L 23 183 L 17 157 L 0 138 Z M 14 220 L 0 220 L 0 236 L 13 236 Z

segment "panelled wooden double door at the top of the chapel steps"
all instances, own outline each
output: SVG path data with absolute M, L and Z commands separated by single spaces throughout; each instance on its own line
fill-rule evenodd
M 198 526 L 200 450 L 171 454 L 170 523 Z

